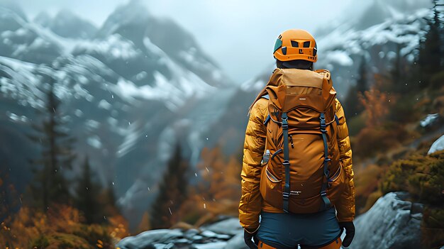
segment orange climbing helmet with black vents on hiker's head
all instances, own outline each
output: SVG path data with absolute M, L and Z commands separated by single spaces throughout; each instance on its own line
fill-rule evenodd
M 274 58 L 280 61 L 318 60 L 318 45 L 313 35 L 301 29 L 284 31 L 274 44 Z

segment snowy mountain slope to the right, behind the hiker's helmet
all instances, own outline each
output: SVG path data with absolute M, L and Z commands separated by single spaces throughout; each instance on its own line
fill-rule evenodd
M 355 84 L 357 69 L 362 58 L 372 73 L 387 71 L 393 64 L 399 48 L 402 57 L 414 60 L 419 40 L 431 16 L 429 1 L 366 1 L 353 4 L 328 26 L 314 33 L 318 43 L 318 62 L 315 69 L 332 72 L 338 97 L 347 94 Z M 353 9 L 352 9 L 353 8 Z M 428 9 L 427 9 L 428 8 Z M 258 92 L 267 82 L 274 65 L 267 73 L 245 82 L 241 88 Z

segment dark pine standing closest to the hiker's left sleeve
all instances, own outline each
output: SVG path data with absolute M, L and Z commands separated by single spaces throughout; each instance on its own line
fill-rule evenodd
M 150 222 L 152 229 L 169 228 L 180 221 L 180 206 L 187 199 L 188 162 L 182 158 L 181 148 L 176 145 L 167 162 L 167 170 L 159 184 L 157 198 L 151 206 Z

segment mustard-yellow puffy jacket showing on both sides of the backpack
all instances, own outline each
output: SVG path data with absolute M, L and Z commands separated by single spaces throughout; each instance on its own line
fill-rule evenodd
M 335 208 L 338 212 L 338 221 L 353 221 L 355 217 L 355 185 L 353 183 L 352 150 L 343 107 L 338 99 L 335 99 L 335 105 L 336 115 L 339 119 L 337 139 L 340 160 L 343 162 L 343 167 L 348 177 L 348 189 L 343 192 L 342 198 L 335 205 Z M 262 170 L 260 162 L 265 150 L 266 128 L 264 121 L 268 116 L 267 106 L 267 99 L 261 98 L 255 102 L 250 112 L 247 130 L 245 131 L 239 220 L 240 225 L 249 232 L 253 232 L 259 227 L 261 211 L 283 213 L 281 209 L 276 209 L 263 201 L 260 194 L 260 172 Z

